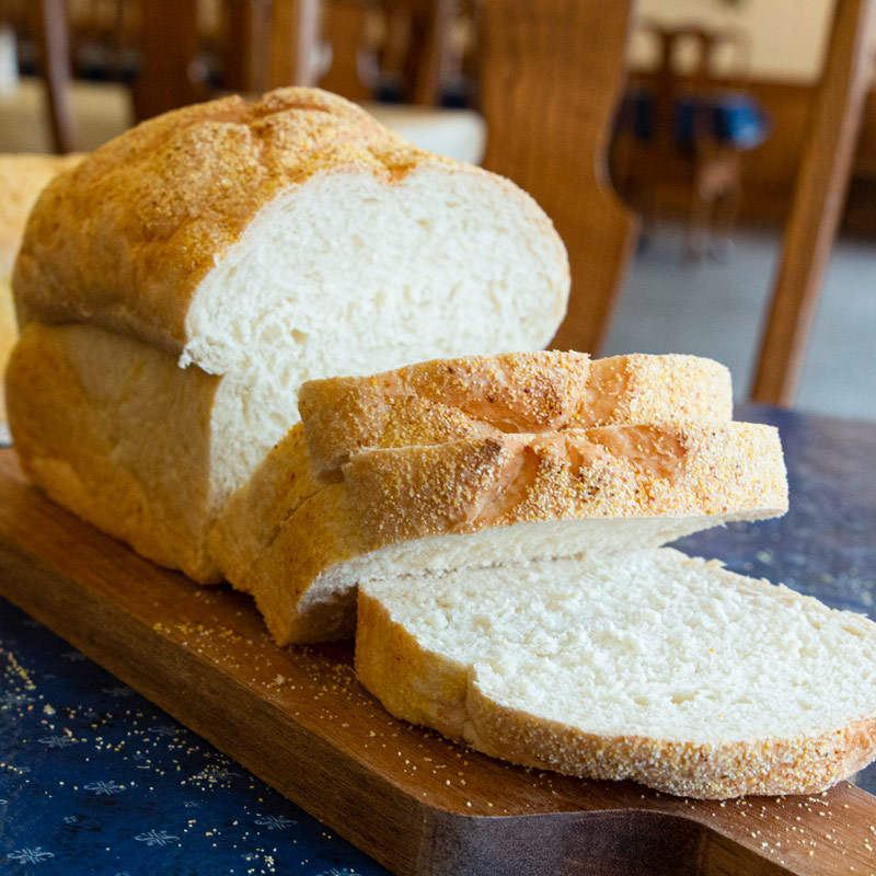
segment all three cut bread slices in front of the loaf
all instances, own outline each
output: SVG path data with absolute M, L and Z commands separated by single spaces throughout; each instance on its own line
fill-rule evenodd
M 814 793 L 876 754 L 876 625 L 659 546 L 786 509 L 724 369 L 474 357 L 299 403 L 212 546 L 281 643 L 348 633 L 358 591 L 356 670 L 397 717 L 691 797 Z

